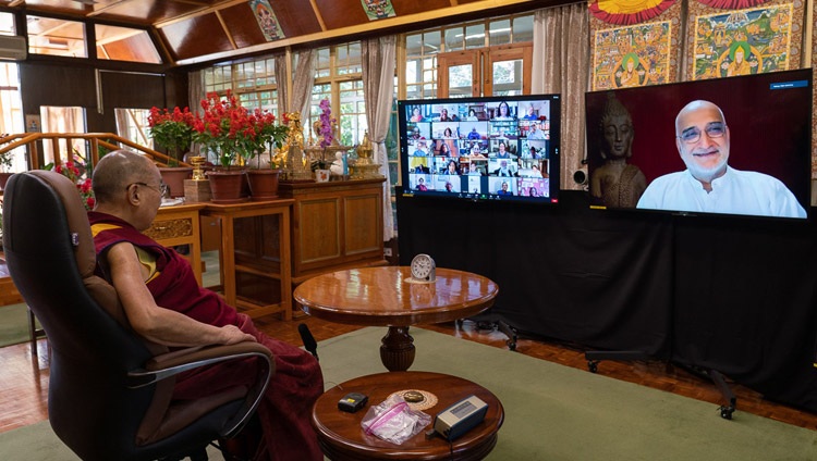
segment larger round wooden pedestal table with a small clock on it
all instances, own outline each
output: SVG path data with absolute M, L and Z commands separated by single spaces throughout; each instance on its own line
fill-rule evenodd
M 318 275 L 295 288 L 304 311 L 330 322 L 388 326 L 380 360 L 389 371 L 414 362 L 408 326 L 476 315 L 493 304 L 499 287 L 481 275 L 437 269 L 430 283 L 414 282 L 406 266 L 352 269 Z

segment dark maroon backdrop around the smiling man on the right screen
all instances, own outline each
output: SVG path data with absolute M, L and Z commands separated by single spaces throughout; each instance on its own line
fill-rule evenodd
M 603 164 L 601 120 L 608 98 L 614 96 L 632 119 L 632 157 L 649 185 L 686 167 L 675 145 L 675 117 L 694 100 L 717 104 L 730 130 L 728 164 L 780 179 L 808 213 L 812 172 L 812 71 L 795 70 L 639 88 L 593 91 L 585 95 L 588 177 Z M 594 208 L 610 207 L 592 194 Z M 638 209 L 641 210 L 641 209 Z M 649 210 L 656 211 L 656 210 Z M 684 213 L 683 210 L 658 210 Z M 691 214 L 710 214 L 696 211 Z M 719 211 L 711 214 L 742 214 Z

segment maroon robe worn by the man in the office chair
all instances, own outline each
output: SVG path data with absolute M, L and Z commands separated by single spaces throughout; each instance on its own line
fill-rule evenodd
M 258 407 L 264 437 L 258 447 L 260 456 L 254 459 L 322 460 L 317 436 L 309 424 L 312 406 L 324 391 L 324 377 L 317 360 L 302 349 L 268 337 L 247 315 L 227 304 L 219 295 L 200 288 L 187 260 L 174 250 L 162 247 L 115 216 L 92 211 L 88 219 L 96 234 L 97 261 L 101 262 L 97 264 L 99 275 L 110 279 L 103 273 L 105 253 L 112 245 L 129 241 L 156 257 L 158 275 L 148 282 L 147 287 L 158 306 L 211 325 L 236 325 L 272 351 L 276 373 Z M 173 396 L 195 399 L 235 385 L 247 385 L 255 376 L 253 361 L 220 364 L 180 377 Z

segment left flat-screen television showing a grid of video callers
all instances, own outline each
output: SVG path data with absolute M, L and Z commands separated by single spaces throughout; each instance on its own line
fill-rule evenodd
M 398 101 L 403 197 L 559 201 L 559 95 Z

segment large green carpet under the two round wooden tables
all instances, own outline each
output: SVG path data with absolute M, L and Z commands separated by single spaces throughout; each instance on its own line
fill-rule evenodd
M 383 334 L 371 327 L 321 341 L 327 387 L 385 371 Z M 413 328 L 412 335 L 412 370 L 462 376 L 502 401 L 505 422 L 489 460 L 817 460 L 817 432 L 743 413 L 740 401 L 728 421 L 712 403 L 436 332 Z M 0 434 L 0 460 L 74 459 L 47 423 Z

